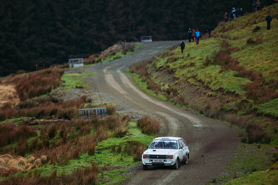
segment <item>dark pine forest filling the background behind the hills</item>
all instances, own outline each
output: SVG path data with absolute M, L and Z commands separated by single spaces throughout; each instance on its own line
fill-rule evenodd
M 0 0 L 0 76 L 88 57 L 124 40 L 181 40 L 252 0 Z M 261 7 L 269 0 L 261 0 Z

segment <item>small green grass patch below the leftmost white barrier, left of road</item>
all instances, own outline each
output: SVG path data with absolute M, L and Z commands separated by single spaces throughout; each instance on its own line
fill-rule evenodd
M 62 85 L 65 86 L 65 89 L 86 88 L 87 85 L 81 81 L 82 77 L 85 76 L 93 76 L 93 73 L 64 74 L 61 78 L 64 81 Z

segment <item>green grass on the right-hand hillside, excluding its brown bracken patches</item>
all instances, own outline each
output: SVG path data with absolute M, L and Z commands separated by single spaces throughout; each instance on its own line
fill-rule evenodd
M 273 21 L 271 24 L 271 30 L 267 30 L 267 24 L 265 18 L 267 13 L 270 12 Z M 235 21 L 227 22 L 223 25 L 219 25 L 214 31 L 211 38 L 201 40 L 200 44 L 196 46 L 196 43 L 188 43 L 185 46 L 185 52 L 182 54 L 180 48 L 176 48 L 173 51 L 169 51 L 168 56 L 158 57 L 155 59 L 154 67 L 159 71 L 152 73 L 155 77 L 155 81 L 163 86 L 179 86 L 180 94 L 185 94 L 185 99 L 190 101 L 190 94 L 187 96 L 187 91 L 182 88 L 181 84 L 190 83 L 191 86 L 196 87 L 196 91 L 199 90 L 200 82 L 209 88 L 207 93 L 208 97 L 203 98 L 201 101 L 195 100 L 192 104 L 200 103 L 204 106 L 207 101 L 213 98 L 221 99 L 220 106 L 225 106 L 227 109 L 233 108 L 236 103 L 247 99 L 245 96 L 244 86 L 252 81 L 247 78 L 236 77 L 235 71 L 232 70 L 221 70 L 221 66 L 209 64 L 205 66 L 206 58 L 212 58 L 213 51 L 222 49 L 221 43 L 226 40 L 231 44 L 231 47 L 239 48 L 238 51 L 231 53 L 233 58 L 236 58 L 240 65 L 245 69 L 253 69 L 254 73 L 262 73 L 263 79 L 271 84 L 271 80 L 278 80 L 278 20 L 277 18 L 278 4 L 264 8 L 263 10 L 248 14 L 240 17 Z M 253 33 L 252 31 L 256 26 L 261 27 L 261 30 Z M 247 44 L 247 40 L 250 39 L 255 41 L 261 40 L 260 44 Z M 172 53 L 171 53 L 172 52 Z M 179 58 L 175 61 L 167 59 L 171 57 Z M 160 70 L 171 73 L 176 79 L 165 77 L 159 74 Z M 132 74 L 133 78 L 136 79 L 137 84 L 144 91 L 146 90 L 145 83 L 140 82 L 138 75 Z M 144 85 L 143 85 L 144 84 Z M 212 91 L 211 91 L 212 90 Z M 220 90 L 220 91 L 219 91 Z M 153 94 L 152 92 L 148 92 Z M 227 95 L 231 94 L 230 98 Z M 158 94 L 157 97 L 159 97 Z M 164 98 L 164 97 L 163 97 Z M 161 99 L 163 99 L 161 98 Z M 165 99 L 165 98 L 164 98 Z M 194 99 L 194 98 L 192 98 Z M 249 100 L 250 101 L 250 100 Z M 190 105 L 190 103 L 189 103 Z M 240 143 L 237 148 L 237 152 L 234 158 L 227 166 L 223 174 L 216 178 L 216 182 L 227 182 L 230 179 L 238 177 L 246 177 L 240 180 L 235 180 L 231 184 L 276 184 L 277 170 L 275 171 L 262 171 L 269 169 L 275 162 L 273 159 L 274 148 L 278 147 L 277 142 L 277 115 L 278 115 L 278 98 L 270 100 L 263 104 L 253 104 L 253 108 L 249 107 L 246 110 L 237 111 L 238 115 L 246 114 L 251 109 L 257 109 L 257 115 L 264 115 L 266 117 L 275 118 L 272 122 L 268 122 L 268 118 L 260 118 L 251 116 L 250 121 L 254 122 L 260 120 L 264 123 L 268 131 L 272 134 L 271 144 L 262 144 L 260 148 L 257 148 L 256 144 L 245 144 Z M 219 105 L 215 105 L 216 107 Z M 235 109 L 237 110 L 237 109 Z M 276 132 L 275 132 L 276 131 Z M 244 131 L 243 131 L 244 132 Z M 239 135 L 242 135 L 239 133 Z M 271 150 L 270 148 L 273 147 Z M 240 160 L 238 160 L 240 159 Z M 254 171 L 260 171 L 253 174 Z M 252 174 L 252 175 L 250 175 Z M 250 175 L 250 176 L 248 176 Z M 238 183 L 239 182 L 239 183 Z

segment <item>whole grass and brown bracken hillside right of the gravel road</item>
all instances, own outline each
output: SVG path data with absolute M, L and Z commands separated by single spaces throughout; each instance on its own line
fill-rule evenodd
M 271 30 L 265 21 L 268 12 Z M 240 140 L 235 158 L 212 184 L 249 174 L 231 184 L 277 183 L 277 165 L 271 168 L 278 161 L 277 15 L 275 4 L 220 22 L 211 38 L 203 36 L 199 45 L 187 43 L 184 53 L 173 47 L 130 68 L 143 91 L 152 90 L 150 95 L 229 122 L 235 129 Z M 261 160 L 267 156 L 271 159 L 266 164 Z

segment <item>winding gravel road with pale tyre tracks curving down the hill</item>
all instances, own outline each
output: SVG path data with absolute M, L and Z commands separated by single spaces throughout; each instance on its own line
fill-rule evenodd
M 90 89 L 85 92 L 94 101 L 116 102 L 119 112 L 147 114 L 161 119 L 163 136 L 185 139 L 190 149 L 187 165 L 178 170 L 169 167 L 138 168 L 126 185 L 203 185 L 215 178 L 233 156 L 237 138 L 225 124 L 206 118 L 143 93 L 124 71 L 135 62 L 149 59 L 179 41 L 140 43 L 132 54 L 120 59 L 70 69 L 93 72 L 87 77 Z M 72 92 L 74 93 L 74 92 Z M 78 92 L 77 92 L 78 93 Z

